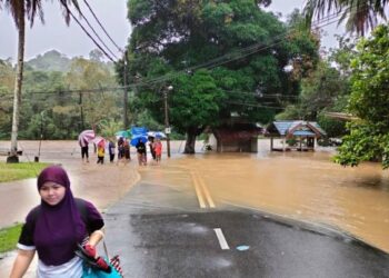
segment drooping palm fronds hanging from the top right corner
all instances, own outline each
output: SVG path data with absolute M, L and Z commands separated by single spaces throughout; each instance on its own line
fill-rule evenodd
M 325 16 L 340 14 L 338 23 L 346 22 L 349 32 L 365 33 L 373 29 L 380 20 L 386 20 L 385 8 L 389 0 L 308 0 L 305 13 L 309 22 Z

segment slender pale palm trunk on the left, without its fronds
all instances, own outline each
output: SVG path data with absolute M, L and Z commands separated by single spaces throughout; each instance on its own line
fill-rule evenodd
M 12 115 L 12 133 L 11 133 L 11 155 L 10 160 L 18 162 L 18 128 L 19 128 L 19 115 L 21 103 L 21 85 L 23 80 L 23 66 L 24 66 L 24 4 L 21 4 L 22 11 L 19 13 L 19 29 L 18 29 L 18 68 L 17 76 L 14 79 L 14 91 L 13 91 L 13 115 Z

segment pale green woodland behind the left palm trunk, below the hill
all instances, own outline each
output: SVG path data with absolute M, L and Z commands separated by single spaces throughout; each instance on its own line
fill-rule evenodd
M 69 62 L 67 73 L 34 70 L 32 67 L 24 70 L 20 139 L 40 139 L 41 135 L 43 139 L 74 139 L 82 129 L 91 128 L 93 123 L 121 120 L 119 109 L 122 103 L 119 96 L 122 92 L 101 89 L 118 86 L 110 66 L 82 58 Z M 1 61 L 0 139 L 10 138 L 13 82 L 11 64 Z M 72 93 L 69 89 L 79 92 Z

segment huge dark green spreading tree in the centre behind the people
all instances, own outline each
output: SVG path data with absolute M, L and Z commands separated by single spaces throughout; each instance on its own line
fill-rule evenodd
M 315 67 L 316 37 L 307 29 L 291 31 L 296 21 L 283 23 L 263 11 L 259 4 L 268 2 L 129 0 L 130 72 L 140 73 L 144 85 L 139 97 L 163 120 L 160 88 L 173 86 L 170 123 L 181 131 L 186 127 L 187 153 L 205 127 L 228 121 L 231 113 L 253 122 L 271 120 L 273 108 L 282 106 L 275 96 L 297 95 L 299 78 Z M 289 63 L 299 70 L 296 79 L 283 70 Z M 197 73 L 200 69 L 207 70 Z M 158 78 L 163 75 L 170 77 Z M 164 83 L 147 81 L 154 78 Z M 201 108 L 207 111 L 188 115 Z

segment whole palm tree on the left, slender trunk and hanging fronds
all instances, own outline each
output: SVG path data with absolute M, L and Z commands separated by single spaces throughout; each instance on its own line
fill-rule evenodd
M 79 10 L 77 0 L 60 0 L 61 8 L 63 9 L 63 17 L 69 24 L 70 13 L 68 4 L 73 3 Z M 26 17 L 30 21 L 31 27 L 33 20 L 39 16 L 42 23 L 43 10 L 42 0 L 0 0 L 0 9 L 4 4 L 6 9 L 11 13 L 14 23 L 18 29 L 18 63 L 17 75 L 14 79 L 13 91 L 13 115 L 12 115 L 12 132 L 11 132 L 11 155 L 8 157 L 8 162 L 18 162 L 18 127 L 19 127 L 19 107 L 21 102 L 21 86 L 23 80 L 23 66 L 24 66 L 24 32 L 26 32 Z

